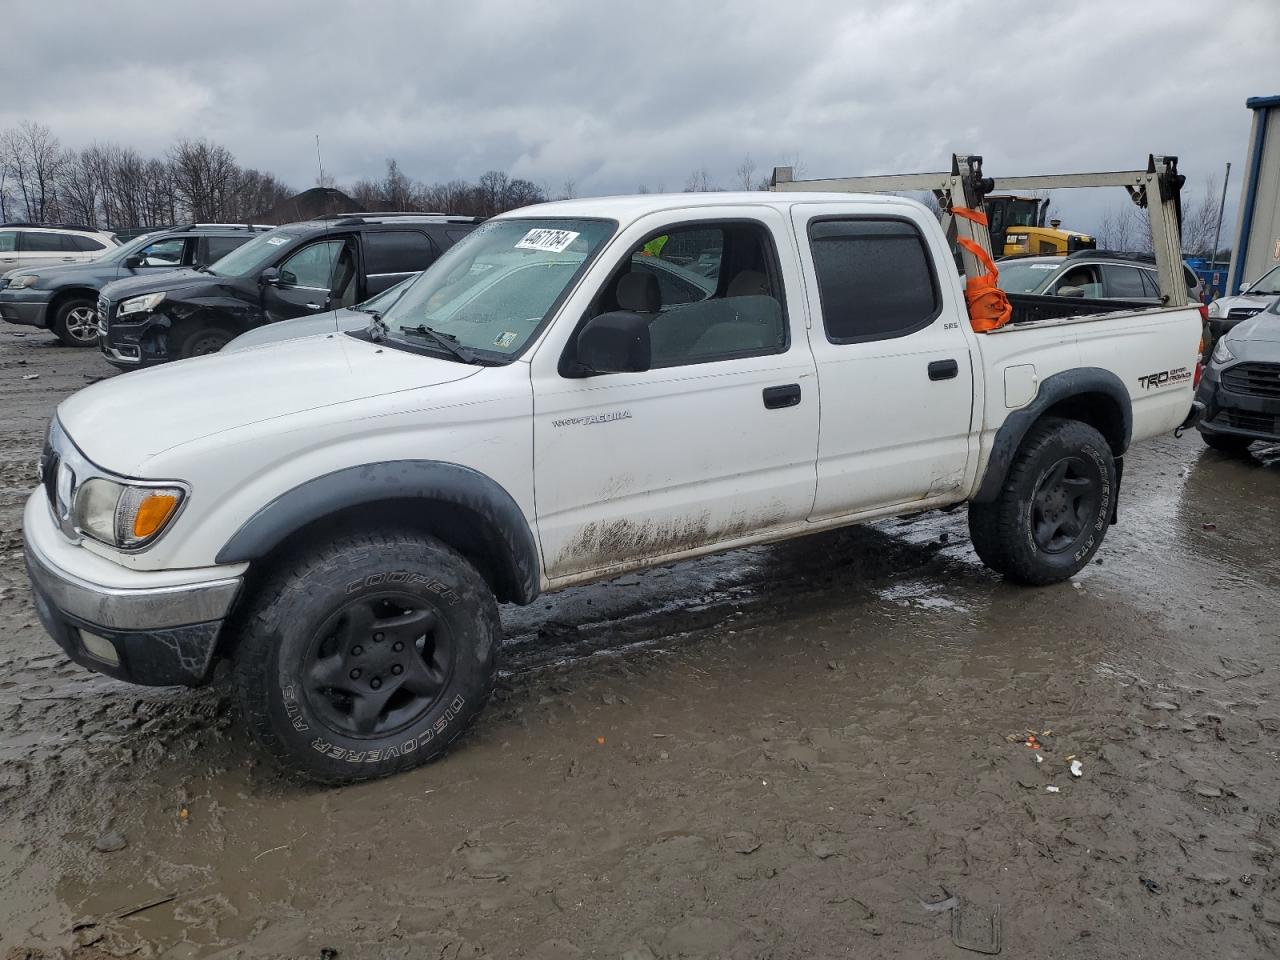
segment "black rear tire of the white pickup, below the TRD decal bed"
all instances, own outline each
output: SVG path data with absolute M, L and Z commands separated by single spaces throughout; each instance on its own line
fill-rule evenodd
M 1052 502 L 1057 489 L 1066 489 L 1059 484 L 1044 490 L 1064 462 L 1073 471 L 1064 483 L 1084 493 L 1075 506 L 1057 499 L 1065 503 L 1064 509 L 1073 511 L 1073 524 L 1076 509 L 1083 516 L 1078 535 L 1064 526 L 1059 538 L 1062 545 L 1050 550 L 1037 540 L 1037 529 L 1053 520 L 1043 520 L 1044 499 Z M 1111 522 L 1115 497 L 1115 457 L 1102 434 L 1076 420 L 1050 417 L 1028 430 L 996 499 L 969 504 L 969 536 L 982 562 L 997 573 L 1020 584 L 1056 584 L 1083 570 L 1097 553 Z

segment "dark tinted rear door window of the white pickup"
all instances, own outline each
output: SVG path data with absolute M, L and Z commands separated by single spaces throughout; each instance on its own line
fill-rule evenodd
M 906 337 L 942 310 L 924 237 L 906 220 L 814 220 L 809 246 L 832 343 Z

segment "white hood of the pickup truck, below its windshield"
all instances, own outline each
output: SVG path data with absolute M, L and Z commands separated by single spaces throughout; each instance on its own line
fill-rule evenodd
M 479 370 L 344 334 L 310 337 L 134 370 L 63 401 L 58 419 L 91 461 L 140 476 L 150 458 L 183 443 Z

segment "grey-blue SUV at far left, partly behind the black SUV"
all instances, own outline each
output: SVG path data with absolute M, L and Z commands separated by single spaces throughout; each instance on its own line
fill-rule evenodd
M 41 326 L 72 347 L 97 346 L 97 296 L 124 278 L 151 282 L 160 271 L 211 264 L 270 227 L 202 224 L 136 237 L 82 264 L 14 270 L 0 282 L 0 319 Z

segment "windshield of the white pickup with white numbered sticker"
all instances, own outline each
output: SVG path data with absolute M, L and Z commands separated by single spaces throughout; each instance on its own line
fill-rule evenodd
M 467 352 L 515 357 L 616 227 L 612 220 L 490 220 L 387 310 L 388 335 L 416 346 L 434 335 Z

